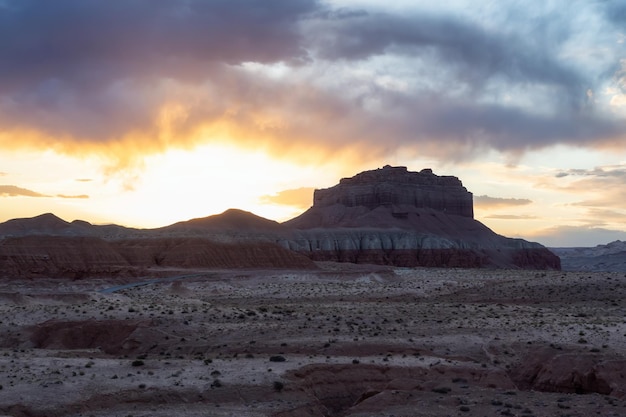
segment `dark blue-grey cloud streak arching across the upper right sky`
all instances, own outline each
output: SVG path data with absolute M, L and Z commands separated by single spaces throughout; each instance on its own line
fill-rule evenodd
M 327 59 L 433 54 L 442 71 L 453 70 L 459 81 L 474 87 L 502 77 L 560 86 L 575 100 L 585 96 L 584 77 L 557 61 L 545 44 L 551 40 L 536 33 L 488 30 L 448 16 L 364 13 L 329 19 L 312 36 L 319 38 L 320 55 Z

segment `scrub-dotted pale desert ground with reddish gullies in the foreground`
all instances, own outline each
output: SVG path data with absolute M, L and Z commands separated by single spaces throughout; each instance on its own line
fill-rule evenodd
M 317 266 L 0 281 L 0 415 L 626 416 L 624 273 Z

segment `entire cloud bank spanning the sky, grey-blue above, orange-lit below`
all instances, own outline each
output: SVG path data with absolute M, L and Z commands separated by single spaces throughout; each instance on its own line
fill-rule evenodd
M 626 121 L 587 94 L 620 79 L 602 35 L 619 3 L 557 2 L 545 16 L 497 5 L 486 20 L 316 0 L 0 7 L 0 148 L 97 153 L 117 168 L 208 141 L 310 161 L 624 146 Z

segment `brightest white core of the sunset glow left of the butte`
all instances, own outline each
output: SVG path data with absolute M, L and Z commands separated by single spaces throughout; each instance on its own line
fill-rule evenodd
M 302 172 L 296 166 L 261 151 L 205 145 L 146 158 L 145 173 L 128 194 L 141 207 L 132 217 L 143 224 L 163 225 L 229 208 L 284 219 L 292 209 L 261 205 L 259 199 L 277 188 L 295 186 L 298 178 Z

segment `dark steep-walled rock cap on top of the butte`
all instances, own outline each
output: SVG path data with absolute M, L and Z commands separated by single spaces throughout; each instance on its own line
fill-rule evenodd
M 389 165 L 343 178 L 334 187 L 315 190 L 313 206 L 335 204 L 370 209 L 385 205 L 409 205 L 474 217 L 472 193 L 463 187 L 457 177 L 438 176 L 431 169 L 412 172 L 406 167 Z

